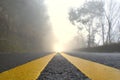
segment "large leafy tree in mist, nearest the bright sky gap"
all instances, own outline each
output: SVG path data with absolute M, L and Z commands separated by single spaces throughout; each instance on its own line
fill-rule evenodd
M 102 1 L 88 1 L 78 9 L 71 9 L 69 20 L 73 25 L 77 25 L 79 30 L 86 29 L 88 32 L 88 47 L 94 44 L 95 33 L 99 27 L 94 27 L 95 19 L 103 17 L 104 3 Z

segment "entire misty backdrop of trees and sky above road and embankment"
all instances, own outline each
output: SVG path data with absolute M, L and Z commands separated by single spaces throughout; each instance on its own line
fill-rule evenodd
M 3 0 L 0 51 L 24 53 L 119 46 L 119 12 L 119 0 Z

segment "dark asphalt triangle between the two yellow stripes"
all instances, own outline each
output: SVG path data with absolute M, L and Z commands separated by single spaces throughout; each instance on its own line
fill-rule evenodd
M 60 54 L 43 70 L 38 80 L 90 80 Z

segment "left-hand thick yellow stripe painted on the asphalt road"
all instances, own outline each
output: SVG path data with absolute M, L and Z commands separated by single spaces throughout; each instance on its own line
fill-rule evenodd
M 0 80 L 36 80 L 55 53 L 0 73 Z

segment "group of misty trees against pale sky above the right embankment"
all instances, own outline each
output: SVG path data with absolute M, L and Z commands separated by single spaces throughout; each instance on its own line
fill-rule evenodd
M 86 0 L 69 11 L 70 22 L 77 27 L 73 42 L 80 47 L 97 47 L 120 43 L 120 2 Z

